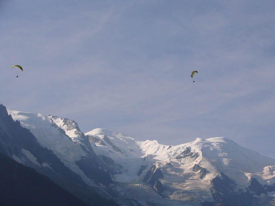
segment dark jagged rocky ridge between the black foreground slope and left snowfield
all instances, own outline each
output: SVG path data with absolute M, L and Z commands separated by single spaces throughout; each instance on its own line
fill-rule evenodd
M 29 151 L 36 159 L 36 164 L 23 151 Z M 20 159 L 24 165 L 49 177 L 54 183 L 88 205 L 117 205 L 114 201 L 101 197 L 80 176 L 67 168 L 51 150 L 42 147 L 30 130 L 23 128 L 19 121 L 13 121 L 2 104 L 0 104 L 0 152 Z M 49 167 L 42 166 L 42 164 L 49 165 Z

